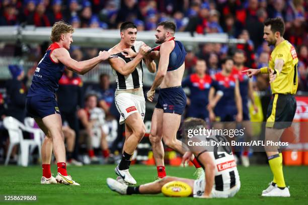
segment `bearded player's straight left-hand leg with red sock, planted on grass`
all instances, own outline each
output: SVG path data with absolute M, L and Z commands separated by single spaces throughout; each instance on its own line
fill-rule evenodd
M 166 176 L 165 171 L 165 151 L 162 142 L 163 139 L 163 109 L 154 109 L 151 121 L 151 131 L 149 140 L 153 150 L 153 158 L 157 166 L 158 177 L 163 178 Z

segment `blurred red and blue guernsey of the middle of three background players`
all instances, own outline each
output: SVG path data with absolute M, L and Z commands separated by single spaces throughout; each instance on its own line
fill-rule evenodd
M 214 113 L 220 122 L 233 122 L 238 113 L 235 102 L 236 78 L 234 75 L 224 76 L 216 73 L 215 80 L 223 91 L 223 95 L 217 102 Z

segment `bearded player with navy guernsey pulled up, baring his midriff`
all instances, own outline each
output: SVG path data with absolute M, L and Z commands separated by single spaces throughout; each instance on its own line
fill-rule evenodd
M 153 101 L 155 89 L 160 86 L 160 95 L 154 109 L 151 121 L 149 139 L 152 145 L 153 157 L 157 166 L 158 177 L 166 176 L 164 163 L 165 145 L 184 154 L 181 141 L 176 134 L 180 127 L 181 115 L 186 106 L 186 95 L 181 86 L 185 69 L 186 51 L 180 41 L 175 41 L 176 25 L 173 22 L 161 22 L 156 29 L 156 43 L 161 43 L 160 52 L 152 51 L 152 59 L 160 59 L 155 80 L 146 93 L 149 101 Z M 197 160 L 192 156 L 198 178 L 204 176 L 204 171 Z

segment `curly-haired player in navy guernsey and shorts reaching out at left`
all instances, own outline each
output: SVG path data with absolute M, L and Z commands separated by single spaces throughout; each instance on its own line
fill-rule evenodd
M 101 51 L 99 56 L 86 61 L 73 60 L 68 49 L 72 41 L 72 26 L 63 21 L 56 22 L 51 30 L 52 44 L 38 63 L 32 84 L 27 94 L 26 108 L 46 137 L 42 144 L 43 176 L 41 184 L 64 183 L 79 185 L 66 172 L 65 146 L 62 133 L 62 121 L 55 99 L 55 91 L 59 86 L 64 67 L 85 74 L 98 63 L 109 58 L 107 51 Z M 57 160 L 58 174 L 51 176 L 50 161 L 52 150 Z

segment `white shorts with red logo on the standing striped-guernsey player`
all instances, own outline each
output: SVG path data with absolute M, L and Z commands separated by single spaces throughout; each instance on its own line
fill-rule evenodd
M 126 118 L 133 113 L 139 113 L 141 119 L 144 119 L 145 99 L 143 96 L 131 93 L 120 93 L 115 97 L 115 104 L 121 115 L 119 120 L 120 125 L 125 123 Z

